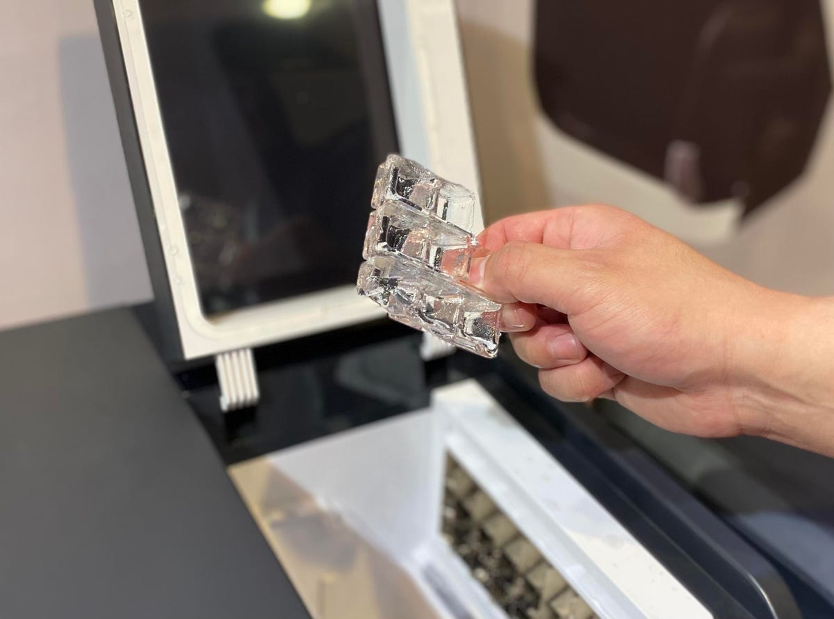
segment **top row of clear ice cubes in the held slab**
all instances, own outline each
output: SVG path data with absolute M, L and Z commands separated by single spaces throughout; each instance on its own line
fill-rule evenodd
M 379 166 L 371 207 L 377 209 L 388 200 L 425 211 L 463 230 L 470 231 L 474 224 L 475 194 L 395 154 Z

